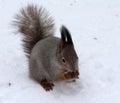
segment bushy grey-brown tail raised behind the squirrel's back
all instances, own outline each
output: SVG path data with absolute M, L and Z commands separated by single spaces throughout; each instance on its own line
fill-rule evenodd
M 32 48 L 41 39 L 54 34 L 54 21 L 41 7 L 28 5 L 16 15 L 14 25 L 24 36 L 24 51 L 29 58 Z

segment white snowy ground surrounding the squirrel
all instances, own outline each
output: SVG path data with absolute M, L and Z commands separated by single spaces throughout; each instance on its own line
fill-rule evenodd
M 73 36 L 80 79 L 51 92 L 28 77 L 21 37 L 11 21 L 19 8 L 42 5 Z M 120 103 L 120 0 L 0 0 L 0 103 Z

